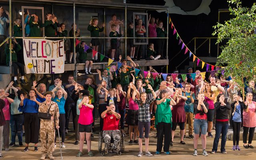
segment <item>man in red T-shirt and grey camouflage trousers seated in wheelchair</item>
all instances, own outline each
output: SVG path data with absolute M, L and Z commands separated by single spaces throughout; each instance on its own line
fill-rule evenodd
M 104 119 L 103 123 L 103 139 L 105 141 L 108 153 L 117 153 L 118 147 L 120 147 L 121 132 L 118 130 L 120 114 L 115 112 L 116 107 L 114 104 L 106 106 L 107 110 L 102 112 L 101 117 Z M 111 145 L 111 138 L 114 139 L 114 144 Z M 120 149 L 120 148 L 119 148 Z

